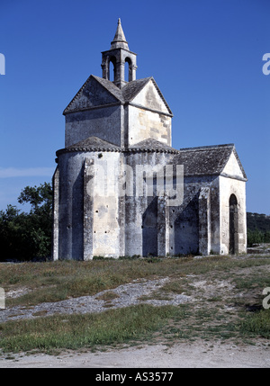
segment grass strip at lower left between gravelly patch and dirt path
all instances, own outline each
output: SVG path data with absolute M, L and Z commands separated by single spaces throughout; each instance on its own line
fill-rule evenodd
M 7 352 L 78 349 L 126 343 L 148 334 L 179 315 L 175 307 L 147 304 L 100 314 L 54 316 L 4 323 L 0 347 Z

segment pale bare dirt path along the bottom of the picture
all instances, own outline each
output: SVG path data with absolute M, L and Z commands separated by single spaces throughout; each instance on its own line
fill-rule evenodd
M 106 352 L 14 355 L 0 358 L 0 368 L 270 368 L 267 346 L 232 346 L 211 342 L 171 347 L 140 346 Z

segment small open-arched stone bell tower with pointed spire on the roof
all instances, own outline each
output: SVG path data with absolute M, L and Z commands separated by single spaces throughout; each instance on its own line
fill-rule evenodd
M 136 80 L 137 54 L 131 52 L 128 42 L 118 19 L 117 30 L 111 42 L 111 49 L 102 52 L 103 79 L 110 80 L 120 89 L 132 80 Z M 110 74 L 110 63 L 113 65 L 113 74 Z M 125 76 L 126 63 L 128 63 L 128 76 Z M 125 79 L 129 79 L 128 81 Z

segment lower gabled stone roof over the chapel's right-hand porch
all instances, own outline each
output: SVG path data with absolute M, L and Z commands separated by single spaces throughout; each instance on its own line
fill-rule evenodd
M 220 175 L 232 153 L 237 158 L 244 179 L 247 180 L 234 144 L 180 148 L 179 154 L 174 158 L 174 163 L 184 165 L 184 175 Z

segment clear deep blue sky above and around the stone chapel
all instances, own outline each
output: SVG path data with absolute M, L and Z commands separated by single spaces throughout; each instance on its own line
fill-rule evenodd
M 49 182 L 67 104 L 102 76 L 117 20 L 173 118 L 173 147 L 234 143 L 247 211 L 270 214 L 269 0 L 1 0 L 0 210 Z

